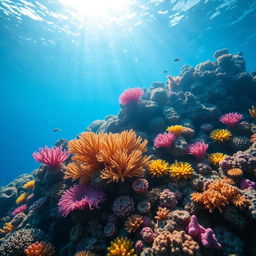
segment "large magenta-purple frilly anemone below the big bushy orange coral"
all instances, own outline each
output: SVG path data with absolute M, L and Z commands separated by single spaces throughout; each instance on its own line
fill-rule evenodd
M 90 184 L 78 184 L 64 192 L 58 203 L 59 212 L 66 217 L 70 212 L 80 209 L 99 208 L 99 204 L 105 200 L 105 194 L 95 190 Z

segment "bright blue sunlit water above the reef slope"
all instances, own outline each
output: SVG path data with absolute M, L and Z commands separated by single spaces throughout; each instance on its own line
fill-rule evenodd
M 255 70 L 255 24 L 253 0 L 1 0 L 0 182 L 38 167 L 39 147 L 117 114 L 126 88 L 166 81 L 164 70 L 222 48 Z

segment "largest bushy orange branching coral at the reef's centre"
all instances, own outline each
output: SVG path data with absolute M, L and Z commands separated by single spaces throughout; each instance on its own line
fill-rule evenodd
M 68 146 L 75 163 L 67 166 L 65 178 L 79 179 L 80 183 L 88 182 L 99 172 L 107 182 L 142 177 L 151 158 L 143 156 L 147 140 L 136 137 L 132 130 L 115 134 L 85 132 L 79 139 L 71 140 Z

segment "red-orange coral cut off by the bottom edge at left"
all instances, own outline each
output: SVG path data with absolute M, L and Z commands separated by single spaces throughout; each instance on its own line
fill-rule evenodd
M 55 253 L 55 249 L 51 243 L 35 242 L 29 245 L 24 253 L 28 256 L 52 256 Z

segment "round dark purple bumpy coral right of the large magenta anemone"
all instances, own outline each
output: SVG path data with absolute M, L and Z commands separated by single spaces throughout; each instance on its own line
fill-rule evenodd
M 126 218 L 134 211 L 134 201 L 129 196 L 119 196 L 113 202 L 113 213 L 119 218 Z

